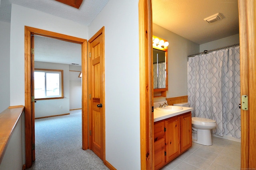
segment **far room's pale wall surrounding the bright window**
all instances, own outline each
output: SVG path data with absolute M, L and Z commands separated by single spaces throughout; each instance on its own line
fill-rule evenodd
M 35 118 L 69 113 L 69 65 L 35 62 L 35 68 L 63 70 L 64 87 L 63 99 L 37 100 L 35 103 Z M 62 106 L 61 109 L 60 106 Z

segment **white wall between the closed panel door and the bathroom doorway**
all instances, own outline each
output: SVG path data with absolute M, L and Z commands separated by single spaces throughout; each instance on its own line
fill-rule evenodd
M 106 161 L 140 169 L 138 0 L 109 0 L 89 26 L 105 26 Z

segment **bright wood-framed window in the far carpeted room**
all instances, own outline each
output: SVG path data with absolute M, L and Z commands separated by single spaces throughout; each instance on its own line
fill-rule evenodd
M 37 100 L 64 98 L 63 70 L 35 69 L 34 90 Z

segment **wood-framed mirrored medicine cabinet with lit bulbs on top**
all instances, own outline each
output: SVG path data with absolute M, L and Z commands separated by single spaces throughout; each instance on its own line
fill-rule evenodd
M 162 41 L 162 42 L 161 42 Z M 168 90 L 166 40 L 153 36 L 153 88 L 154 97 L 166 96 Z

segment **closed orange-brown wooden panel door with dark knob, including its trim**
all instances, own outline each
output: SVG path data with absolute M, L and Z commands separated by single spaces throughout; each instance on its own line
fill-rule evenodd
M 105 158 L 104 28 L 89 40 L 89 148 Z

